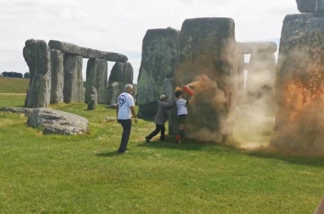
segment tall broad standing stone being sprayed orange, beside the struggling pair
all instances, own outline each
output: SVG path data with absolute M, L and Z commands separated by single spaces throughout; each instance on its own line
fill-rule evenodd
M 233 19 L 198 18 L 183 23 L 175 85 L 199 80 L 189 102 L 187 137 L 222 143 L 232 134 L 238 84 L 235 46 Z

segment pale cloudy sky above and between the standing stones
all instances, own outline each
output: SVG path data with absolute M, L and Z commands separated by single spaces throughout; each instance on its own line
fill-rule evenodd
M 294 13 L 296 0 L 0 0 L 0 72 L 28 71 L 27 39 L 60 40 L 127 55 L 136 83 L 147 29 L 180 30 L 189 18 L 230 17 L 236 41 L 278 42 L 285 15 Z

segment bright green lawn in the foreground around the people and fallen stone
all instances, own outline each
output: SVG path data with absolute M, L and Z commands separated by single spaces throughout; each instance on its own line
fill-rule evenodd
M 1 106 L 24 96 L 0 95 Z M 115 153 L 113 110 L 55 109 L 87 118 L 89 134 L 43 136 L 21 114 L 0 113 L 0 213 L 313 213 L 324 193 L 324 159 L 247 152 L 199 142 L 144 143 L 154 124 L 133 124 Z M 172 140 L 172 138 L 170 139 Z

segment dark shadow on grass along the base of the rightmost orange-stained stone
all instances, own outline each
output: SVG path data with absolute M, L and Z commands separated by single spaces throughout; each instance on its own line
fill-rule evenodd
M 254 151 L 249 153 L 250 156 L 266 159 L 277 159 L 289 164 L 324 167 L 323 156 L 308 156 L 298 154 L 275 153 L 268 151 Z

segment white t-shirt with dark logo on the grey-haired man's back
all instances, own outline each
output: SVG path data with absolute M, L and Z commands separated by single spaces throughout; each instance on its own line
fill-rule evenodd
M 135 106 L 134 98 L 127 92 L 122 93 L 118 96 L 118 119 L 131 119 L 132 112 L 131 107 Z

